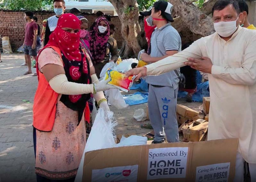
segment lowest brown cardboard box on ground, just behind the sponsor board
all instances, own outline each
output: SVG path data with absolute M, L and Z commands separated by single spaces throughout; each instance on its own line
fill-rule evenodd
M 201 142 L 204 141 L 208 131 L 208 122 L 203 122 L 190 128 L 183 128 L 184 142 Z

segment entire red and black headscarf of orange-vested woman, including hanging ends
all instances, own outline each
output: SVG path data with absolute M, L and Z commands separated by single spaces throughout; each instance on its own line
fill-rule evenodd
M 63 14 L 59 17 L 57 27 L 50 35 L 50 40 L 43 49 L 54 46 L 61 50 L 65 75 L 69 82 L 91 84 L 90 64 L 80 47 L 80 27 L 81 21 L 75 15 Z M 79 32 L 69 33 L 62 28 L 79 29 Z M 39 55 L 40 54 L 41 52 Z M 37 72 L 39 75 L 38 66 Z M 78 111 L 78 122 L 80 122 L 86 107 L 86 102 L 90 99 L 90 96 L 91 94 L 62 94 L 60 101 L 66 107 Z

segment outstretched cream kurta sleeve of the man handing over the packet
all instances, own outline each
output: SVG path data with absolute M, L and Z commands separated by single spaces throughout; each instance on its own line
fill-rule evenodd
M 185 66 L 184 62 L 188 61 L 188 58 L 201 59 L 202 53 L 198 45 L 199 43 L 199 40 L 197 40 L 184 51 L 181 51 L 178 54 L 174 54 L 173 56 L 169 56 L 156 63 L 145 66 L 147 67 L 147 75 L 161 75 L 163 73 L 176 70 Z

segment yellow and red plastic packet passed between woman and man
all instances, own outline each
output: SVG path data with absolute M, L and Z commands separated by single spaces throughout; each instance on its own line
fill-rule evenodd
M 108 69 L 105 80 L 109 77 L 111 77 L 111 81 L 108 82 L 108 84 L 114 85 L 122 91 L 129 92 L 136 75 L 131 75 L 128 78 L 125 78 L 124 73 Z

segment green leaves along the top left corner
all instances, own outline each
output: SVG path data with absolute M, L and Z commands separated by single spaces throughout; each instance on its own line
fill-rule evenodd
M 2 0 L 0 8 L 9 10 L 43 10 L 52 9 L 52 0 Z

